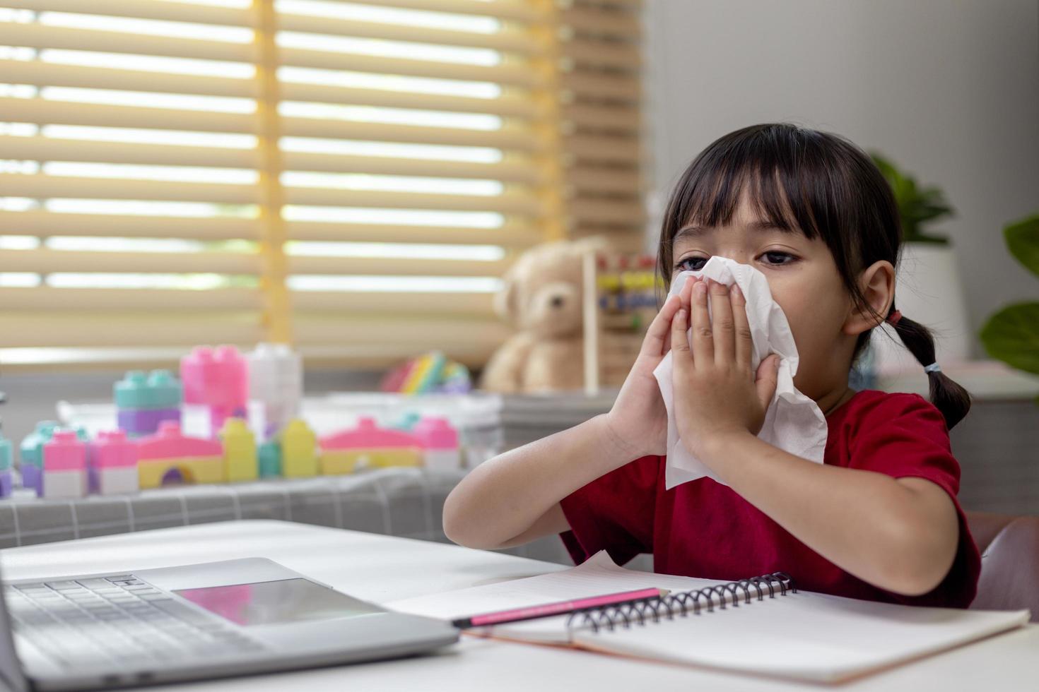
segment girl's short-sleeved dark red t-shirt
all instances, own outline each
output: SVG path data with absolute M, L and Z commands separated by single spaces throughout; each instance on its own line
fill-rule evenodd
M 944 419 L 916 394 L 861 391 L 827 416 L 823 461 L 895 478 L 917 476 L 949 493 L 960 522 L 953 566 L 932 591 L 907 597 L 853 577 L 769 519 L 727 486 L 699 478 L 664 490 L 663 456 L 644 456 L 563 498 L 575 563 L 606 550 L 618 564 L 654 554 L 664 574 L 734 581 L 785 572 L 799 588 L 870 601 L 965 608 L 981 557 L 956 499 L 960 467 Z

